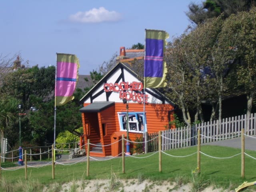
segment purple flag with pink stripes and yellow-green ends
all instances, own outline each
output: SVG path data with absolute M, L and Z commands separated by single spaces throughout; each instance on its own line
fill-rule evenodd
M 164 61 L 166 38 L 169 38 L 169 34 L 165 31 L 146 29 L 144 88 L 166 86 L 167 66 Z

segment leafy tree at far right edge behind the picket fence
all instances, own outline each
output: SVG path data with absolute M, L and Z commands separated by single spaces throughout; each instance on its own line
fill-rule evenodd
M 223 34 L 230 48 L 236 53 L 237 89 L 247 96 L 247 117 L 252 110 L 252 101 L 256 95 L 256 8 L 250 12 L 240 12 L 230 16 L 224 23 Z M 247 123 L 247 126 L 248 123 Z

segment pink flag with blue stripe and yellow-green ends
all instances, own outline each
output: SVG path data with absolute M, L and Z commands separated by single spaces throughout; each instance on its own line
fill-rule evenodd
M 57 53 L 55 106 L 64 105 L 74 99 L 79 67 L 76 55 Z

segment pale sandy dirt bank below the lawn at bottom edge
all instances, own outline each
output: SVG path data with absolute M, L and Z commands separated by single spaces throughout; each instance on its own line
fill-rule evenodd
M 52 188 L 52 186 L 50 186 Z M 178 185 L 175 182 L 149 180 L 139 181 L 138 179 L 129 180 L 86 180 L 69 182 L 63 184 L 60 192 L 190 192 L 191 184 Z M 50 191 L 45 188 L 44 192 Z M 231 190 L 216 189 L 209 186 L 201 192 L 230 192 Z

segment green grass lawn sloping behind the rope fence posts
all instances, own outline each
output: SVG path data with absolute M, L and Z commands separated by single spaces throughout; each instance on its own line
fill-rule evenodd
M 197 146 L 165 151 L 174 156 L 186 156 L 197 151 Z M 240 149 L 221 146 L 201 146 L 201 151 L 210 156 L 224 158 L 234 156 L 241 152 Z M 246 150 L 246 153 L 256 157 L 256 151 Z M 176 180 L 177 178 L 189 178 L 197 167 L 197 154 L 188 157 L 171 157 L 162 154 L 162 172 L 159 172 L 158 153 L 140 154 L 136 157 L 125 158 L 125 174 L 122 173 L 122 157 L 106 161 L 90 161 L 90 176 L 86 176 L 86 162 L 74 165 L 55 166 L 55 179 L 52 180 L 52 166 L 41 168 L 28 167 L 28 180 L 37 180 L 42 185 L 54 182 L 64 183 L 72 180 L 110 179 L 114 173 L 120 179 L 143 178 L 150 180 Z M 241 155 L 232 158 L 211 158 L 201 154 L 201 176 L 204 180 L 210 180 L 216 186 L 228 188 L 230 185 L 238 186 L 244 181 L 256 181 L 256 160 L 245 156 L 245 179 L 241 179 Z M 12 186 L 17 181 L 25 181 L 24 168 L 19 170 L 2 170 L 0 191 L 7 191 L 6 186 Z M 28 182 L 28 181 L 26 181 Z

